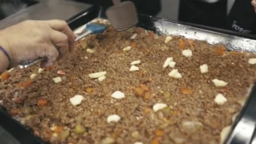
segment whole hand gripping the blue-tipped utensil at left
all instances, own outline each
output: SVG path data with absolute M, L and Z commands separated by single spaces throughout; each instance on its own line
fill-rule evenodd
M 27 20 L 0 31 L 0 45 L 11 58 L 10 67 L 42 57 L 47 61 L 40 66 L 48 67 L 68 51 L 74 51 L 74 43 L 74 33 L 61 20 Z

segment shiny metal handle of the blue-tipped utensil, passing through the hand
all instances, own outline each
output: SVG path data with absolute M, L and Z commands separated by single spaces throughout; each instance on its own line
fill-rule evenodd
M 87 35 L 90 35 L 90 34 L 91 34 L 91 31 L 85 30 L 81 35 L 76 37 L 75 42 L 77 42 L 78 40 L 81 40 L 83 37 L 86 37 Z M 30 67 L 34 64 L 37 64 L 38 62 L 45 61 L 45 60 L 47 60 L 46 57 L 39 58 L 39 59 L 36 59 L 33 61 L 23 61 L 18 65 L 18 67 L 20 69 L 24 69 L 24 68 Z

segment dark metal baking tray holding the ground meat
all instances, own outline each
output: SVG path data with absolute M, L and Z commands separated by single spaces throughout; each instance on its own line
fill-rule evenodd
M 93 6 L 68 21 L 73 31 L 88 22 L 96 19 L 106 19 L 105 12 L 101 7 Z M 214 45 L 222 43 L 229 51 L 256 52 L 256 37 L 254 35 L 243 35 L 237 32 L 213 27 L 205 27 L 196 24 L 189 24 L 167 19 L 155 18 L 147 15 L 139 15 L 137 27 L 152 30 L 162 35 L 179 35 L 194 40 L 204 40 Z M 227 136 L 227 144 L 251 144 L 256 141 L 256 86 L 251 88 L 248 100 L 242 108 L 232 125 L 232 129 Z M 0 108 L 0 125 L 15 137 L 21 144 L 45 144 L 41 139 L 35 137 L 29 128 L 25 128 L 18 121 L 11 118 L 4 108 Z

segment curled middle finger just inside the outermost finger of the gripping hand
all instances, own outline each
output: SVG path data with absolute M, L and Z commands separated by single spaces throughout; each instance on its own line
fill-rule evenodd
M 62 59 L 67 52 L 69 51 L 69 41 L 67 35 L 56 31 L 52 30 L 50 32 L 50 37 L 51 37 L 51 42 L 52 44 L 57 48 L 59 51 L 59 57 L 57 60 Z

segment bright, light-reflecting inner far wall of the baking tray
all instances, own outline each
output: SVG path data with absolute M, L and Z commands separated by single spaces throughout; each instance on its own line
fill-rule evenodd
M 222 43 L 230 51 L 256 52 L 256 40 L 213 32 L 201 28 L 196 28 L 165 19 L 149 17 L 153 21 L 156 32 L 159 34 L 179 35 L 194 40 L 207 41 L 209 44 Z

